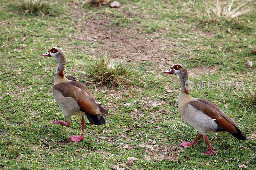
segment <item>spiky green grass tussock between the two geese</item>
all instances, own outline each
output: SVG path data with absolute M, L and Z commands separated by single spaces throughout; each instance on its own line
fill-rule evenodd
M 127 86 L 134 83 L 137 74 L 131 66 L 115 63 L 107 55 L 86 64 L 86 68 L 86 77 L 98 85 Z

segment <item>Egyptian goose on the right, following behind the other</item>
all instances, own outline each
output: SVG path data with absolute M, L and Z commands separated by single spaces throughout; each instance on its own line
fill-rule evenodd
M 212 150 L 206 133 L 224 132 L 233 135 L 239 140 L 246 140 L 244 132 L 241 132 L 236 123 L 225 115 L 218 106 L 208 100 L 196 99 L 188 94 L 188 72 L 183 65 L 174 64 L 169 70 L 164 71 L 164 74 L 180 76 L 181 89 L 178 98 L 178 110 L 181 117 L 199 133 L 199 136 L 191 143 L 182 140 L 182 143 L 179 145 L 185 148 L 193 146 L 204 136 L 210 150 L 205 152 L 205 154 L 213 155 L 216 152 Z

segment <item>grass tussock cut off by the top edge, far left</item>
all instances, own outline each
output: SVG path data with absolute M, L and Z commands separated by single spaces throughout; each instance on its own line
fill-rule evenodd
M 20 0 L 18 6 L 25 10 L 25 12 L 37 13 L 37 14 L 48 14 L 51 8 L 50 4 L 43 0 Z

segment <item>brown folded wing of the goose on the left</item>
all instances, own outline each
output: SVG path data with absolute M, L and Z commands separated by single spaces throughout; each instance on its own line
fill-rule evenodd
M 92 96 L 92 93 L 83 83 L 78 81 L 60 83 L 54 85 L 53 88 L 59 90 L 64 97 L 72 97 L 75 99 L 78 106 L 86 113 L 97 115 L 97 117 L 101 116 L 98 104 Z

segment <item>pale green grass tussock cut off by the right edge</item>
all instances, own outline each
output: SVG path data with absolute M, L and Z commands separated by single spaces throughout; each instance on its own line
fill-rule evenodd
M 250 107 L 256 107 L 256 89 L 248 87 L 244 89 L 239 96 L 242 98 L 244 103 L 248 104 Z

